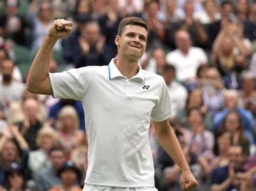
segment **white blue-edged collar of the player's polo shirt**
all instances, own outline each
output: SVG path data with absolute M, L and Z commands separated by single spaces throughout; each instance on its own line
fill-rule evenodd
M 117 68 L 116 64 L 114 63 L 114 61 L 116 61 L 116 60 L 117 60 L 117 58 L 114 58 L 109 63 L 109 66 L 108 66 L 108 68 L 109 68 L 109 80 L 112 80 L 115 77 L 124 77 L 124 78 L 127 79 L 127 77 L 125 77 L 119 71 L 119 69 Z M 139 72 L 136 75 L 132 76 L 131 79 L 140 78 L 140 79 L 142 79 L 145 82 L 146 79 L 145 79 L 142 67 L 140 65 L 138 65 L 138 69 L 139 69 Z

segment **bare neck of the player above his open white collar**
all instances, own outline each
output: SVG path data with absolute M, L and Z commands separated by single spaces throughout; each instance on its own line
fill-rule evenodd
M 138 61 L 129 61 L 127 59 L 117 58 L 115 62 L 120 73 L 128 79 L 131 79 L 138 73 Z

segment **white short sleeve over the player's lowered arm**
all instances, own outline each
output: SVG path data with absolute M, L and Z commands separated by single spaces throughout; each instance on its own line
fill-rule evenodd
M 154 122 L 165 121 L 173 114 L 168 88 L 164 79 L 161 79 L 159 99 L 151 112 L 151 119 Z

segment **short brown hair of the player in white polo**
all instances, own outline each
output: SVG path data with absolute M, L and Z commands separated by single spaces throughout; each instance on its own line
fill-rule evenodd
M 126 25 L 138 25 L 138 26 L 142 26 L 144 27 L 144 29 L 146 29 L 147 31 L 147 25 L 146 23 L 138 18 L 138 17 L 126 17 L 124 18 L 120 23 L 119 23 L 119 26 L 118 26 L 118 33 L 117 35 L 119 37 L 122 36 L 123 32 L 124 32 L 124 28 Z

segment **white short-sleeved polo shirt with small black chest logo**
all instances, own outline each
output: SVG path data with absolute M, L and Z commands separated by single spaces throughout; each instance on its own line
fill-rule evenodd
M 150 118 L 161 122 L 172 115 L 163 77 L 139 67 L 127 79 L 112 59 L 109 66 L 50 74 L 50 81 L 54 97 L 83 103 L 89 143 L 85 183 L 154 186 Z

